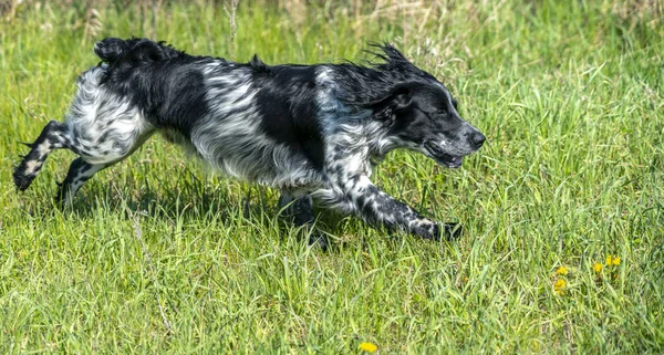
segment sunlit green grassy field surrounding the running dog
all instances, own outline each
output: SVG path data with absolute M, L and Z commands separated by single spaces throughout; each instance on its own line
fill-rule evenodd
M 0 353 L 664 353 L 662 2 L 242 0 L 235 45 L 219 3 L 163 4 L 153 28 L 115 2 L 28 1 L 0 20 Z M 375 180 L 465 234 L 323 211 L 332 248 L 308 248 L 276 219 L 277 191 L 158 137 L 71 212 L 53 200 L 69 152 L 18 194 L 19 140 L 63 117 L 92 43 L 154 32 L 267 63 L 394 43 L 488 142 L 460 170 L 395 153 Z

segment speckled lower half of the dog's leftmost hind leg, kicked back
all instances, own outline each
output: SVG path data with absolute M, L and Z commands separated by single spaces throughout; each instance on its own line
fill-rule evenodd
M 13 171 L 14 184 L 21 191 L 30 186 L 51 152 L 59 148 L 72 147 L 66 125 L 58 121 L 51 121 L 37 140 L 27 145 L 31 150 L 23 157 L 23 160 L 21 160 Z M 74 150 L 74 153 L 76 152 Z

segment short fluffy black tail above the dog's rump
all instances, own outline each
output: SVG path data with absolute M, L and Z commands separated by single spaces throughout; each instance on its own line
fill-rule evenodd
M 164 42 L 137 38 L 128 40 L 104 39 L 94 44 L 94 53 L 108 64 L 160 62 L 185 54 L 185 52 L 178 51 Z

